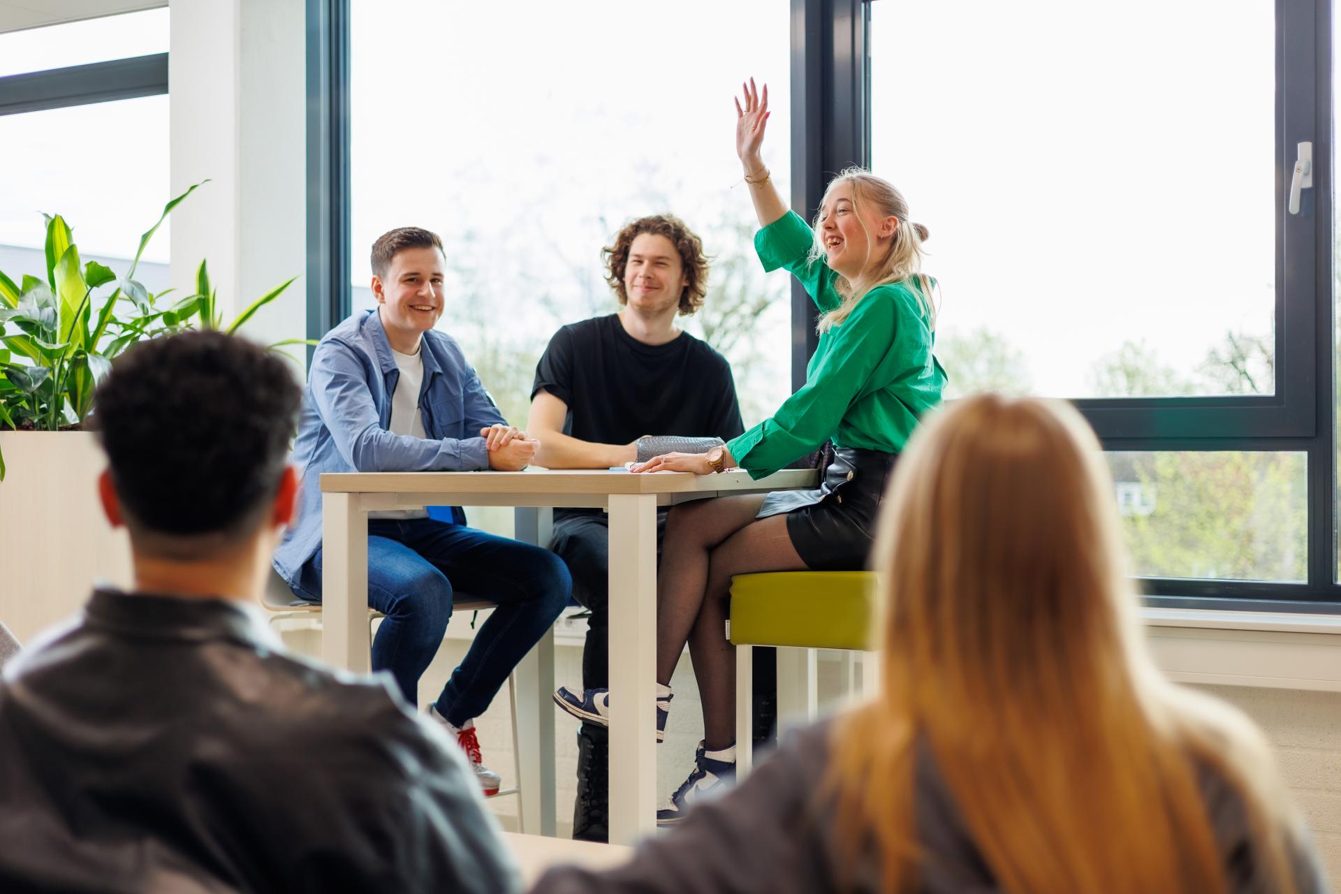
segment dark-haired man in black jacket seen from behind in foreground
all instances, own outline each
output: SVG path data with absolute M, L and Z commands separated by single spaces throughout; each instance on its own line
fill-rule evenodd
M 456 744 L 261 615 L 298 495 L 287 363 L 186 332 L 98 387 L 98 493 L 134 587 L 97 588 L 5 665 L 0 890 L 520 887 Z

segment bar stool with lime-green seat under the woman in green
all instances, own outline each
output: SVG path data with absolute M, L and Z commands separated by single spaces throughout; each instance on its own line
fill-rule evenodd
M 778 647 L 778 721 L 818 716 L 818 649 L 861 653 L 861 690 L 874 690 L 878 654 L 872 650 L 876 575 L 870 571 L 768 571 L 731 579 L 727 639 L 736 647 L 736 776 L 754 760 L 751 674 L 752 646 Z

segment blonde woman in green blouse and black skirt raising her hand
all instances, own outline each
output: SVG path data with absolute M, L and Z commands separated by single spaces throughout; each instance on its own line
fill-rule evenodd
M 751 79 L 743 101 L 736 101 L 736 154 L 762 228 L 755 249 L 764 269 L 786 268 L 814 299 L 819 346 L 806 383 L 772 417 L 724 448 L 668 453 L 633 470 L 709 474 L 740 466 L 760 478 L 830 440 L 834 456 L 818 491 L 689 503 L 666 520 L 657 579 L 657 732 L 688 642 L 704 741 L 658 824 L 679 822 L 696 797 L 735 773 L 735 657 L 724 635 L 731 576 L 864 568 L 894 460 L 945 385 L 932 355 L 933 283 L 920 272 L 927 229 L 909 220 L 902 194 L 864 170 L 845 170 L 829 184 L 811 229 L 783 204 L 760 155 L 768 87 L 760 95 Z M 555 697 L 569 713 L 606 722 L 605 689 L 561 689 Z

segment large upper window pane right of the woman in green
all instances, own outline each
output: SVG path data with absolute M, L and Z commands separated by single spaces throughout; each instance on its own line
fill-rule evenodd
M 1274 390 L 1274 4 L 872 4 L 952 395 Z

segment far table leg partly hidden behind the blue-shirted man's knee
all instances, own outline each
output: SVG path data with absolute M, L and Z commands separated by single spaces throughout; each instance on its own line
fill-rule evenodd
M 512 532 L 522 543 L 550 543 L 552 511 L 518 507 Z M 518 788 L 522 831 L 555 835 L 554 629 L 512 670 L 516 678 Z

